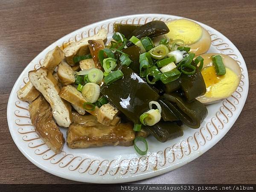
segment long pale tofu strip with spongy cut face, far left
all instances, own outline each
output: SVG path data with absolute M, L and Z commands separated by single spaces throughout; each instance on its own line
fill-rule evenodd
M 60 87 L 52 73 L 45 67 L 29 72 L 29 80 L 42 93 L 52 107 L 52 115 L 58 125 L 69 127 L 71 106 L 58 95 Z

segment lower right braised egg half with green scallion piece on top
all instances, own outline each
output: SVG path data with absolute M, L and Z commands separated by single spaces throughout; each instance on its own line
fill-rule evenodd
M 218 76 L 212 64 L 212 55 L 221 55 L 226 74 Z M 239 64 L 228 55 L 218 53 L 206 53 L 200 55 L 204 58 L 204 66 L 201 70 L 207 92 L 197 98 L 204 104 L 210 104 L 219 100 L 226 99 L 236 90 L 241 80 L 241 70 Z

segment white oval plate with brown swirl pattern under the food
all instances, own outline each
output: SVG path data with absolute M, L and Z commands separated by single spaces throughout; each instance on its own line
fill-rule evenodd
M 148 137 L 148 153 L 140 156 L 134 147 L 106 146 L 70 149 L 65 144 L 61 154 L 54 154 L 35 133 L 29 119 L 28 103 L 17 98 L 17 90 L 28 81 L 28 72 L 40 67 L 42 61 L 56 45 L 79 41 L 94 35 L 100 28 L 113 35 L 113 23 L 144 24 L 151 20 L 173 20 L 181 17 L 143 14 L 103 20 L 78 29 L 59 39 L 36 56 L 17 79 L 9 97 L 7 117 L 12 138 L 20 151 L 39 168 L 59 177 L 90 183 L 121 183 L 146 179 L 169 172 L 189 163 L 215 145 L 238 118 L 248 93 L 248 74 L 244 59 L 234 44 L 220 32 L 200 23 L 210 33 L 212 45 L 208 52 L 217 52 L 234 58 L 241 67 L 242 78 L 233 95 L 222 102 L 208 105 L 208 116 L 201 127 L 183 127 L 184 135 L 160 143 Z M 199 23 L 199 22 L 198 22 Z M 61 128 L 66 138 L 67 129 Z

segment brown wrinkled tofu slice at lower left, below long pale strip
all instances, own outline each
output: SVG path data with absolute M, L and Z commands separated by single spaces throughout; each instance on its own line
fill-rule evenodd
M 55 153 L 60 153 L 65 143 L 63 134 L 52 118 L 52 109 L 43 96 L 29 104 L 29 113 L 36 133 Z

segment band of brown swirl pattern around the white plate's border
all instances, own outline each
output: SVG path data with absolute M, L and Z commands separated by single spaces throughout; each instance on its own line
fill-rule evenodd
M 129 24 L 144 24 L 151 20 L 163 20 L 168 21 L 172 18 L 165 19 L 164 17 L 135 17 L 133 19 L 128 18 L 127 20 L 116 21 L 114 23 L 129 23 Z M 113 33 L 113 24 L 109 22 L 108 25 L 103 24 L 102 26 L 96 26 L 87 31 L 76 35 L 74 38 L 70 38 L 69 41 L 64 41 L 60 47 L 64 49 L 67 44 L 72 41 L 79 41 L 81 38 L 88 37 L 97 33 L 100 28 L 106 28 L 108 34 Z M 212 38 L 212 46 L 219 50 L 220 53 L 229 55 L 234 58 L 241 67 L 239 57 L 234 54 L 234 50 L 224 42 L 222 38 L 218 38 L 218 35 L 212 34 L 208 31 Z M 38 69 L 44 59 L 41 59 L 39 64 L 35 64 L 34 68 Z M 241 67 L 241 72 L 243 68 Z M 215 115 L 209 122 L 205 122 L 203 127 L 198 128 L 194 134 L 181 140 L 180 143 L 176 143 L 172 146 L 166 147 L 163 150 L 148 153 L 147 156 L 141 156 L 140 158 L 122 159 L 122 160 L 92 160 L 90 158 L 82 158 L 73 154 L 67 154 L 65 151 L 61 151 L 61 154 L 54 154 L 45 143 L 35 133 L 35 129 L 29 119 L 28 105 L 23 107 L 20 105 L 20 100 L 15 102 L 16 110 L 14 115 L 15 124 L 19 127 L 17 132 L 21 135 L 24 142 L 28 142 L 28 147 L 35 150 L 36 155 L 40 155 L 43 160 L 49 161 L 53 165 L 58 165 L 59 168 L 68 168 L 70 171 L 78 171 L 79 173 L 88 173 L 89 175 L 125 175 L 130 173 L 131 175 L 137 172 L 145 172 L 151 169 L 155 171 L 167 164 L 170 165 L 175 160 L 181 160 L 184 156 L 189 156 L 192 151 L 198 151 L 201 146 L 204 146 L 207 142 L 211 141 L 219 132 L 225 128 L 225 124 L 229 122 L 229 119 L 233 116 L 233 112 L 236 111 L 236 106 L 239 105 L 241 99 L 241 93 L 243 92 L 244 86 L 244 75 L 241 76 L 241 81 L 237 90 L 233 95 L 222 101 L 222 105 Z M 23 83 L 29 79 L 25 77 Z M 20 86 L 21 87 L 21 86 Z M 21 112 L 23 111 L 23 112 Z M 25 112 L 24 112 L 25 111 Z M 22 114 L 21 114 L 22 113 Z M 25 115 L 23 114 L 25 113 Z M 35 141 L 37 141 L 35 143 Z

